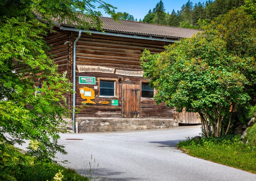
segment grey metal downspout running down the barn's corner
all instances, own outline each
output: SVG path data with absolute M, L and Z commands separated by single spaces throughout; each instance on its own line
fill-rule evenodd
M 75 133 L 75 106 L 76 106 L 76 42 L 81 37 L 82 30 L 79 30 L 78 37 L 73 44 L 73 133 Z

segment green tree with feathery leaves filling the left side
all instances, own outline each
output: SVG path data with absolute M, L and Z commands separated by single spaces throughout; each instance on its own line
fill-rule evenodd
M 66 131 L 64 117 L 70 111 L 64 95 L 72 93 L 72 85 L 47 56 L 50 49 L 43 37 L 52 31 L 52 17 L 58 17 L 59 22 L 77 22 L 87 30 L 101 30 L 101 12 L 95 11 L 96 4 L 117 19 L 115 8 L 101 0 L 0 2 L 1 149 L 7 143 L 22 144 L 30 139 L 37 146 L 30 146 L 29 153 L 38 160 L 52 161 L 57 151 L 66 153 L 57 140 L 58 133 Z M 77 13 L 84 13 L 82 19 Z M 88 17 L 92 21 L 86 22 Z M 41 82 L 42 87 L 37 87 Z M 0 172 L 5 169 L 2 154 L 0 150 Z

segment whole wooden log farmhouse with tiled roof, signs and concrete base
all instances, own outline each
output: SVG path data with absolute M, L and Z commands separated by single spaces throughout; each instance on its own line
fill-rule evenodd
M 145 48 L 160 53 L 164 46 L 191 37 L 198 30 L 126 20 L 118 23 L 108 17 L 101 20 L 105 32 L 92 29 L 88 35 L 75 29 L 76 24 L 63 22 L 45 38 L 59 71 L 67 71 L 68 79 L 75 83 L 76 94 L 67 95 L 69 108 L 85 108 L 70 121 L 77 122 L 78 132 L 160 129 L 177 127 L 179 123 L 200 123 L 194 113 L 177 113 L 164 103 L 156 105 L 156 91 L 143 78 L 140 66 Z

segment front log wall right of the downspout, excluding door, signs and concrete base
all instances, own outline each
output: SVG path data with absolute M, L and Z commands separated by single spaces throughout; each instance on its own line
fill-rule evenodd
M 77 37 L 77 35 L 75 37 Z M 82 34 L 79 41 L 76 43 L 76 65 L 103 66 L 124 71 L 142 71 L 140 67 L 141 52 L 147 48 L 151 53 L 159 53 L 164 51 L 164 45 L 166 45 L 165 42 Z M 96 83 L 95 85 L 79 84 L 79 76 L 96 77 Z M 111 106 L 110 104 L 102 105 L 99 103 L 100 101 L 111 103 L 111 100 L 114 99 L 99 96 L 99 80 L 101 79 L 116 80 L 117 90 L 115 99 L 118 100 L 118 106 Z M 84 86 L 93 89 L 95 91 L 95 99 L 93 101 L 96 102 L 96 104 L 87 104 L 90 107 L 85 107 L 85 109 L 76 116 L 123 117 L 123 85 L 139 85 L 138 89 L 140 89 L 141 82 L 143 81 L 145 82 L 147 80 L 143 77 L 122 76 L 116 73 L 79 73 L 77 70 L 76 92 L 79 92 L 79 88 Z M 98 86 L 98 89 L 94 89 L 94 86 Z M 82 106 L 82 101 L 80 94 L 76 94 L 76 105 Z M 139 105 L 140 118 L 173 118 L 173 109 L 165 105 L 156 106 L 155 101 L 151 98 L 140 97 Z

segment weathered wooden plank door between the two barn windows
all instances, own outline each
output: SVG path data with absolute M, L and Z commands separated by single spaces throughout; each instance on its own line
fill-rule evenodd
M 123 84 L 123 117 L 140 117 L 140 85 Z

